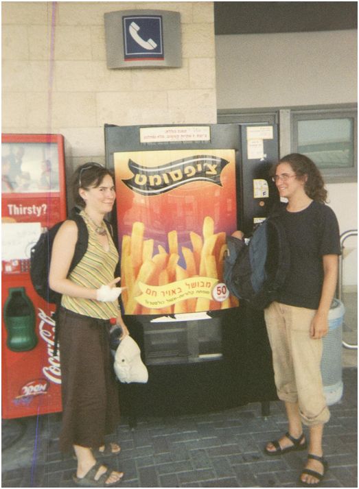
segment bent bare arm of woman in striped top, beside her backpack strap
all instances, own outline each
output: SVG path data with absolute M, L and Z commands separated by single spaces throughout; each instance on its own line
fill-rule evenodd
M 65 221 L 56 233 L 52 246 L 49 286 L 59 294 L 84 299 L 96 299 L 96 289 L 87 289 L 71 282 L 67 278 L 77 240 L 78 226 L 76 222 Z

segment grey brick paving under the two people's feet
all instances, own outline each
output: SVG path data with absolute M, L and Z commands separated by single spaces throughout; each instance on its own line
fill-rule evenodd
M 323 438 L 329 462 L 323 487 L 358 487 L 357 369 L 344 369 L 343 381 L 343 399 L 330 408 Z M 59 453 L 59 431 L 58 414 L 3 421 L 2 487 L 75 487 L 76 461 Z M 260 404 L 251 403 L 207 414 L 141 417 L 135 429 L 124 419 L 111 438 L 121 453 L 104 460 L 124 471 L 122 488 L 296 487 L 305 453 L 268 457 L 263 451 L 265 442 L 285 431 L 279 402 L 270 403 L 266 418 Z

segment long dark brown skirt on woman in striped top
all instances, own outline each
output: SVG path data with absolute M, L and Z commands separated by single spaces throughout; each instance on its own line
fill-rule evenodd
M 119 422 L 118 387 L 109 346 L 110 324 L 60 308 L 62 376 L 60 450 L 96 449 Z

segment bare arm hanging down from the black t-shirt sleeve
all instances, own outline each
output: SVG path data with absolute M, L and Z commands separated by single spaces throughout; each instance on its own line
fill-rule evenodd
M 338 279 L 338 255 L 325 254 L 323 256 L 324 279 L 321 300 L 316 315 L 310 326 L 310 337 L 319 339 L 327 334 L 328 314 L 336 290 Z

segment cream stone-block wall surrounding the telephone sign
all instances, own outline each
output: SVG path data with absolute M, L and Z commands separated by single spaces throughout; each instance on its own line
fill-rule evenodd
M 104 123 L 216 123 L 212 2 L 1 7 L 2 131 L 63 134 L 68 170 L 104 162 Z M 183 67 L 106 68 L 104 12 L 135 9 L 181 13 Z

